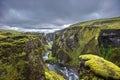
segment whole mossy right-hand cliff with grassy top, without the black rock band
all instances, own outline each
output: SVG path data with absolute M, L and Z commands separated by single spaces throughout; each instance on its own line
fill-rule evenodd
M 79 55 L 93 53 L 119 65 L 120 47 L 111 47 L 109 44 L 107 44 L 108 47 L 105 47 L 103 46 L 104 42 L 102 44 L 99 42 L 101 32 L 111 29 L 120 29 L 120 17 L 81 22 L 55 32 L 52 47 L 53 56 L 57 58 L 59 63 L 78 65 Z M 118 39 L 108 37 L 106 40 L 113 38 L 115 39 L 113 42 L 117 40 L 119 42 L 120 34 L 117 35 L 115 36 Z

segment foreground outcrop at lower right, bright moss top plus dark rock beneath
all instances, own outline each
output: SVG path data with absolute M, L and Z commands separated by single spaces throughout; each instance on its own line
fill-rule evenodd
M 80 59 L 80 77 L 97 80 L 119 80 L 120 68 L 102 57 L 92 54 L 79 56 Z

